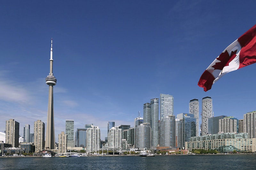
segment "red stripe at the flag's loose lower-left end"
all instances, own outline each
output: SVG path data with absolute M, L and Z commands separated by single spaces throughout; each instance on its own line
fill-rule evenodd
M 205 70 L 202 76 L 199 79 L 198 86 L 203 87 L 204 91 L 210 90 L 212 88 L 212 83 L 215 80 L 215 78 L 212 76 L 212 74 Z

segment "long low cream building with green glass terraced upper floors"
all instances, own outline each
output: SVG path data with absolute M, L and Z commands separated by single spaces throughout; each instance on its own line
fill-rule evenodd
M 191 137 L 190 142 L 185 142 L 185 149 L 219 150 L 223 146 L 234 146 L 241 151 L 252 151 L 255 143 L 250 139 L 247 133 L 219 133 L 213 135 L 204 135 Z

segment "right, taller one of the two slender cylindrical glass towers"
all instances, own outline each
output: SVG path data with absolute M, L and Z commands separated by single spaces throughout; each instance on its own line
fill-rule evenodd
M 159 144 L 159 99 L 150 100 L 151 108 L 151 146 Z

